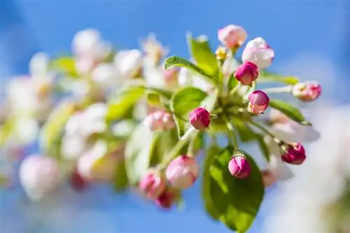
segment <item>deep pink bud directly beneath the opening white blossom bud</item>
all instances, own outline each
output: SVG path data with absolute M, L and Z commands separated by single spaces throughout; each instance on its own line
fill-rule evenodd
M 259 76 L 259 69 L 253 62 L 244 62 L 235 73 L 235 78 L 244 85 L 251 85 Z

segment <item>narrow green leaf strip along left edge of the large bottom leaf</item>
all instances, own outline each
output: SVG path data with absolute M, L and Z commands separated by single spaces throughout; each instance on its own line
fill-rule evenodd
M 207 149 L 207 155 L 204 158 L 203 164 L 203 181 L 202 181 L 202 199 L 204 202 L 204 208 L 209 213 L 209 216 L 214 220 L 218 220 L 220 218 L 220 214 L 216 212 L 213 199 L 211 197 L 212 192 L 212 178 L 210 174 L 211 165 L 214 163 L 214 159 L 216 155 L 221 152 L 221 148 L 219 146 L 211 146 Z

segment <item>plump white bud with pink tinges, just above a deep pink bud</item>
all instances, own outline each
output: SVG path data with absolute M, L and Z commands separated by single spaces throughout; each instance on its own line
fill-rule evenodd
M 241 59 L 243 62 L 253 62 L 259 69 L 267 68 L 274 59 L 274 50 L 261 38 L 249 41 L 244 48 Z

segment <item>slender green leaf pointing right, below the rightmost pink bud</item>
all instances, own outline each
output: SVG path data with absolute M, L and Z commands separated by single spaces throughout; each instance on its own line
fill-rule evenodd
M 305 120 L 304 115 L 295 106 L 287 104 L 286 102 L 272 99 L 269 101 L 269 106 L 280 111 L 284 115 L 288 116 L 291 120 L 298 122 L 300 125 L 310 125 L 311 123 Z

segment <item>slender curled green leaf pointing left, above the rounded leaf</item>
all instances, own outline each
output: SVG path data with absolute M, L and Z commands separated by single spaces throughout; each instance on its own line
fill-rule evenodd
M 207 80 L 209 80 L 211 83 L 215 83 L 212 76 L 210 76 L 208 73 L 200 69 L 200 67 L 196 66 L 195 64 L 186 59 L 177 56 L 172 56 L 165 59 L 164 68 L 166 70 L 172 69 L 174 66 L 185 67 L 187 69 L 190 69 L 191 71 L 200 73 L 202 76 L 207 77 Z

